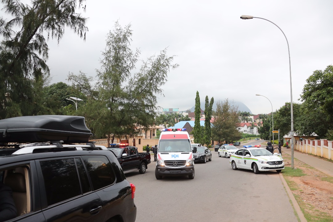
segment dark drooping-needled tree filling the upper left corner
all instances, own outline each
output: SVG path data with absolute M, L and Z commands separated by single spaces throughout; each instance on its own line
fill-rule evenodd
M 76 12 L 83 0 L 2 3 L 3 10 L 13 18 L 0 18 L 0 118 L 41 114 L 46 110 L 42 109 L 43 97 L 39 94 L 50 73 L 46 65 L 49 49 L 43 34 L 59 42 L 65 27 L 70 27 L 85 38 L 86 18 Z

